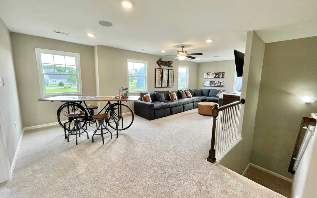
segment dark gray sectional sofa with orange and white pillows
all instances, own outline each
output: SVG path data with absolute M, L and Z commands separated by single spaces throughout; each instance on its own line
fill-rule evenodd
M 139 100 L 134 102 L 134 113 L 148 120 L 153 120 L 197 108 L 201 101 L 216 102 L 219 106 L 222 104 L 222 99 L 216 97 L 218 89 L 185 89 L 184 91 L 190 91 L 192 97 L 185 98 L 184 94 L 181 93 L 182 90 L 172 91 L 177 94 L 178 100 L 171 100 L 169 91 L 142 92 Z M 225 90 L 222 91 L 225 92 Z M 164 93 L 165 102 L 158 101 L 156 92 Z M 152 102 L 142 100 L 141 96 L 148 93 L 150 93 Z

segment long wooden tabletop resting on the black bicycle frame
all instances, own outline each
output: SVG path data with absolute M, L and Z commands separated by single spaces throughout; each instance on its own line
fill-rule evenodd
M 137 101 L 139 96 L 129 96 L 128 98 L 119 99 L 119 98 L 112 98 L 112 96 L 97 96 L 95 98 L 87 98 L 86 96 L 55 96 L 50 98 L 41 98 L 38 99 L 39 101 L 69 101 L 69 102 L 76 102 L 76 101 Z

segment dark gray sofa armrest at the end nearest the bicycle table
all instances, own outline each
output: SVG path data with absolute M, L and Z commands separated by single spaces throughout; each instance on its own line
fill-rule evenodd
M 142 100 L 134 101 L 134 113 L 148 120 L 154 119 L 154 104 Z

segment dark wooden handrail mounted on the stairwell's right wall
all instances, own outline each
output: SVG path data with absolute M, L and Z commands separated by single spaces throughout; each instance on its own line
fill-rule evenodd
M 306 130 L 303 130 L 304 127 L 316 126 L 316 122 L 317 121 L 316 121 L 315 118 L 303 117 L 303 119 L 301 121 L 301 126 L 299 128 L 299 132 L 298 132 L 298 135 L 297 135 L 296 143 L 295 143 L 295 146 L 294 146 L 292 158 L 291 158 L 291 161 L 290 161 L 289 166 L 288 166 L 288 172 L 289 173 L 295 174 L 295 170 L 293 170 L 293 168 L 294 168 L 295 162 L 297 161 L 297 157 L 298 157 L 299 151 L 301 149 L 302 142 L 303 142 L 305 134 L 306 134 Z

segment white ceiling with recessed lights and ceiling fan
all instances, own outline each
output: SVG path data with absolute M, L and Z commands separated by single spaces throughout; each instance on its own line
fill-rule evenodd
M 11 32 L 91 46 L 169 55 L 185 45 L 188 53 L 204 54 L 195 62 L 234 59 L 233 49 L 244 52 L 250 30 L 266 43 L 317 35 L 317 0 L 132 2 L 126 9 L 120 0 L 0 0 L 0 17 Z M 113 26 L 100 26 L 100 20 Z

